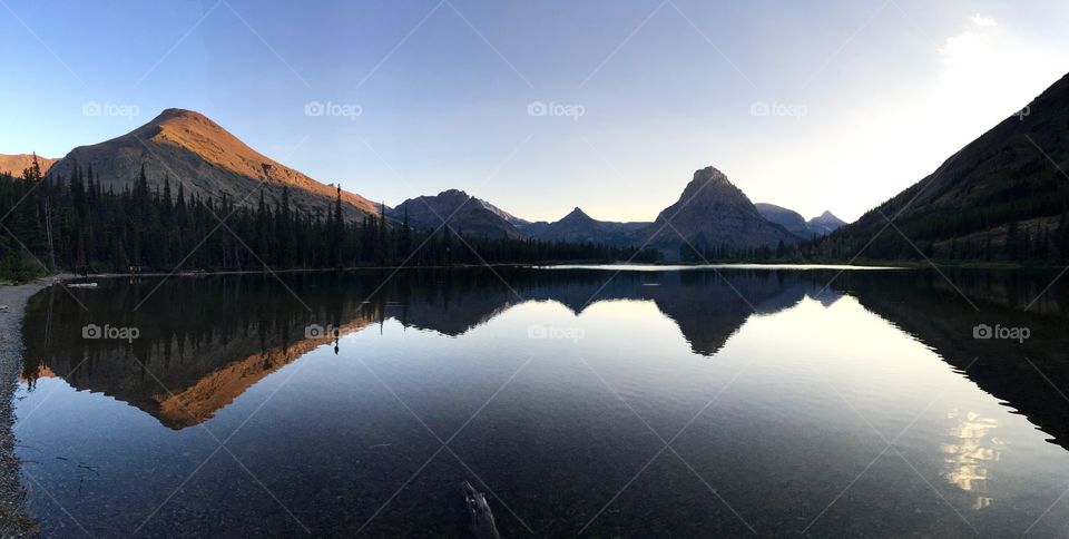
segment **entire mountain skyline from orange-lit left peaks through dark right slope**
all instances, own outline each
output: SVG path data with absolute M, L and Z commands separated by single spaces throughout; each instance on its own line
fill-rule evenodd
M 935 171 L 846 225 L 831 212 L 806 222 L 797 212 L 753 204 L 713 167 L 695 171 L 679 199 L 650 223 L 598 220 L 576 208 L 559 220 L 529 222 L 462 190 L 420 196 L 395 208 L 342 192 L 347 219 L 385 210 L 434 229 L 449 220 L 459 233 L 547 242 L 649 246 L 668 258 L 687 244 L 697 251 L 776 248 L 823 237 L 815 253 L 832 259 L 1069 259 L 1069 76 L 1010 115 Z M 31 155 L 0 156 L 0 173 L 20 175 Z M 246 206 L 268 204 L 288 188 L 302 212 L 323 215 L 334 187 L 269 159 L 195 111 L 167 109 L 120 137 L 72 149 L 61 159 L 37 158 L 51 180 L 92 167 L 105 189 L 120 192 L 144 168 L 150 188 L 166 178 L 187 196 L 226 196 Z M 894 228 L 889 232 L 891 222 Z M 861 249 L 864 249 L 861 252 Z

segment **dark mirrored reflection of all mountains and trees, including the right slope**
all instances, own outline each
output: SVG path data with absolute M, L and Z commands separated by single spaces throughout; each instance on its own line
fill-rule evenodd
M 1006 391 L 1008 399 L 1009 394 L 1021 395 L 1016 405 L 1034 405 L 1037 414 L 1038 410 L 1049 410 L 1045 416 L 1066 416 L 1061 413 L 1066 403 L 1058 402 L 1061 399 L 1057 393 L 1050 394 L 1053 389 L 1049 384 L 1036 383 L 1034 371 L 1027 365 L 1022 369 L 1018 362 L 1007 365 L 998 361 L 1003 353 L 1014 352 L 1012 343 L 975 342 L 970 333 L 975 323 L 988 320 L 1002 321 L 1002 325 L 1021 321 L 1018 326 L 1049 326 L 1050 333 L 1033 331 L 1043 340 L 1042 350 L 1048 355 L 1030 359 L 1050 367 L 1066 365 L 1069 357 L 1065 349 L 1050 345 L 1062 336 L 1059 324 L 1063 322 L 1063 307 L 1059 298 L 1065 297 L 1048 293 L 1029 313 L 1021 312 L 1041 291 L 1040 277 L 1011 288 L 1010 283 L 990 273 L 957 275 L 959 287 L 974 301 L 989 302 L 989 311 L 999 312 L 998 316 L 984 317 L 970 312 L 968 304 L 934 274 L 844 274 L 825 287 L 833 276 L 827 272 L 759 270 L 620 273 L 606 285 L 608 277 L 598 271 L 509 271 L 507 286 L 486 271 L 409 272 L 375 291 L 385 274 L 367 272 L 295 277 L 298 295 L 268 276 L 175 278 L 153 293 L 137 312 L 134 307 L 155 288 L 154 282 L 134 287 L 118 281 L 104 282 L 105 291 L 80 296 L 88 311 L 75 312 L 73 317 L 50 320 L 53 308 L 71 311 L 72 300 L 63 293 L 52 290 L 35 298 L 26 323 L 28 361 L 23 375 L 31 384 L 42 374 L 60 376 L 77 389 L 115 396 L 180 429 L 209 419 L 249 385 L 331 341 L 327 336 L 308 339 L 305 329 L 310 324 L 330 325 L 345 335 L 393 318 L 406 327 L 455 336 L 524 301 L 559 302 L 578 315 L 597 302 L 640 300 L 654 302 L 674 321 L 695 353 L 713 356 L 752 315 L 777 313 L 806 296 L 828 306 L 845 292 L 934 347 L 955 366 L 964 367 L 977 360 L 978 367 L 967 375 L 990 381 L 992 388 L 985 389 L 996 396 Z M 81 339 L 75 330 L 94 321 L 137 326 L 141 334 L 130 345 Z M 71 372 L 82 360 L 84 364 Z M 158 380 L 147 375 L 146 369 Z M 1003 372 L 989 372 L 991 369 Z M 981 371 L 981 375 L 975 374 Z M 1069 382 L 1065 370 L 1046 374 L 1055 385 Z M 1011 383 L 1021 380 L 1028 383 Z M 170 392 L 161 393 L 161 385 Z M 1069 448 L 1066 425 L 1050 425 L 1048 432 Z

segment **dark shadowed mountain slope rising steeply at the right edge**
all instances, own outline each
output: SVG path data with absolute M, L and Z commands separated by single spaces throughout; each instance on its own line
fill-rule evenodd
M 867 245 L 864 255 L 872 258 L 912 258 L 918 249 L 953 259 L 1069 256 L 1067 126 L 1069 75 L 931 175 L 836 231 L 824 253 L 850 257 Z M 881 234 L 889 219 L 898 231 Z

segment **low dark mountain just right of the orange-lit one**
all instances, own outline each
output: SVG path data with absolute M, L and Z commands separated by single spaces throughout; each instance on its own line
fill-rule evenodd
M 442 226 L 442 219 L 447 219 L 450 228 L 460 234 L 482 237 L 524 237 L 512 222 L 526 222 L 458 189 L 443 190 L 434 196 L 409 198 L 398 207 L 386 210 L 386 216 L 402 220 L 405 213 L 408 213 L 409 223 L 416 228 L 438 229 Z

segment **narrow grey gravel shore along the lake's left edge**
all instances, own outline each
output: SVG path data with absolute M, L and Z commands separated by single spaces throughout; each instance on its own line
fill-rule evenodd
M 0 537 L 33 537 L 37 522 L 26 512 L 26 488 L 14 455 L 14 391 L 22 369 L 22 315 L 30 296 L 50 285 L 39 280 L 0 285 Z

